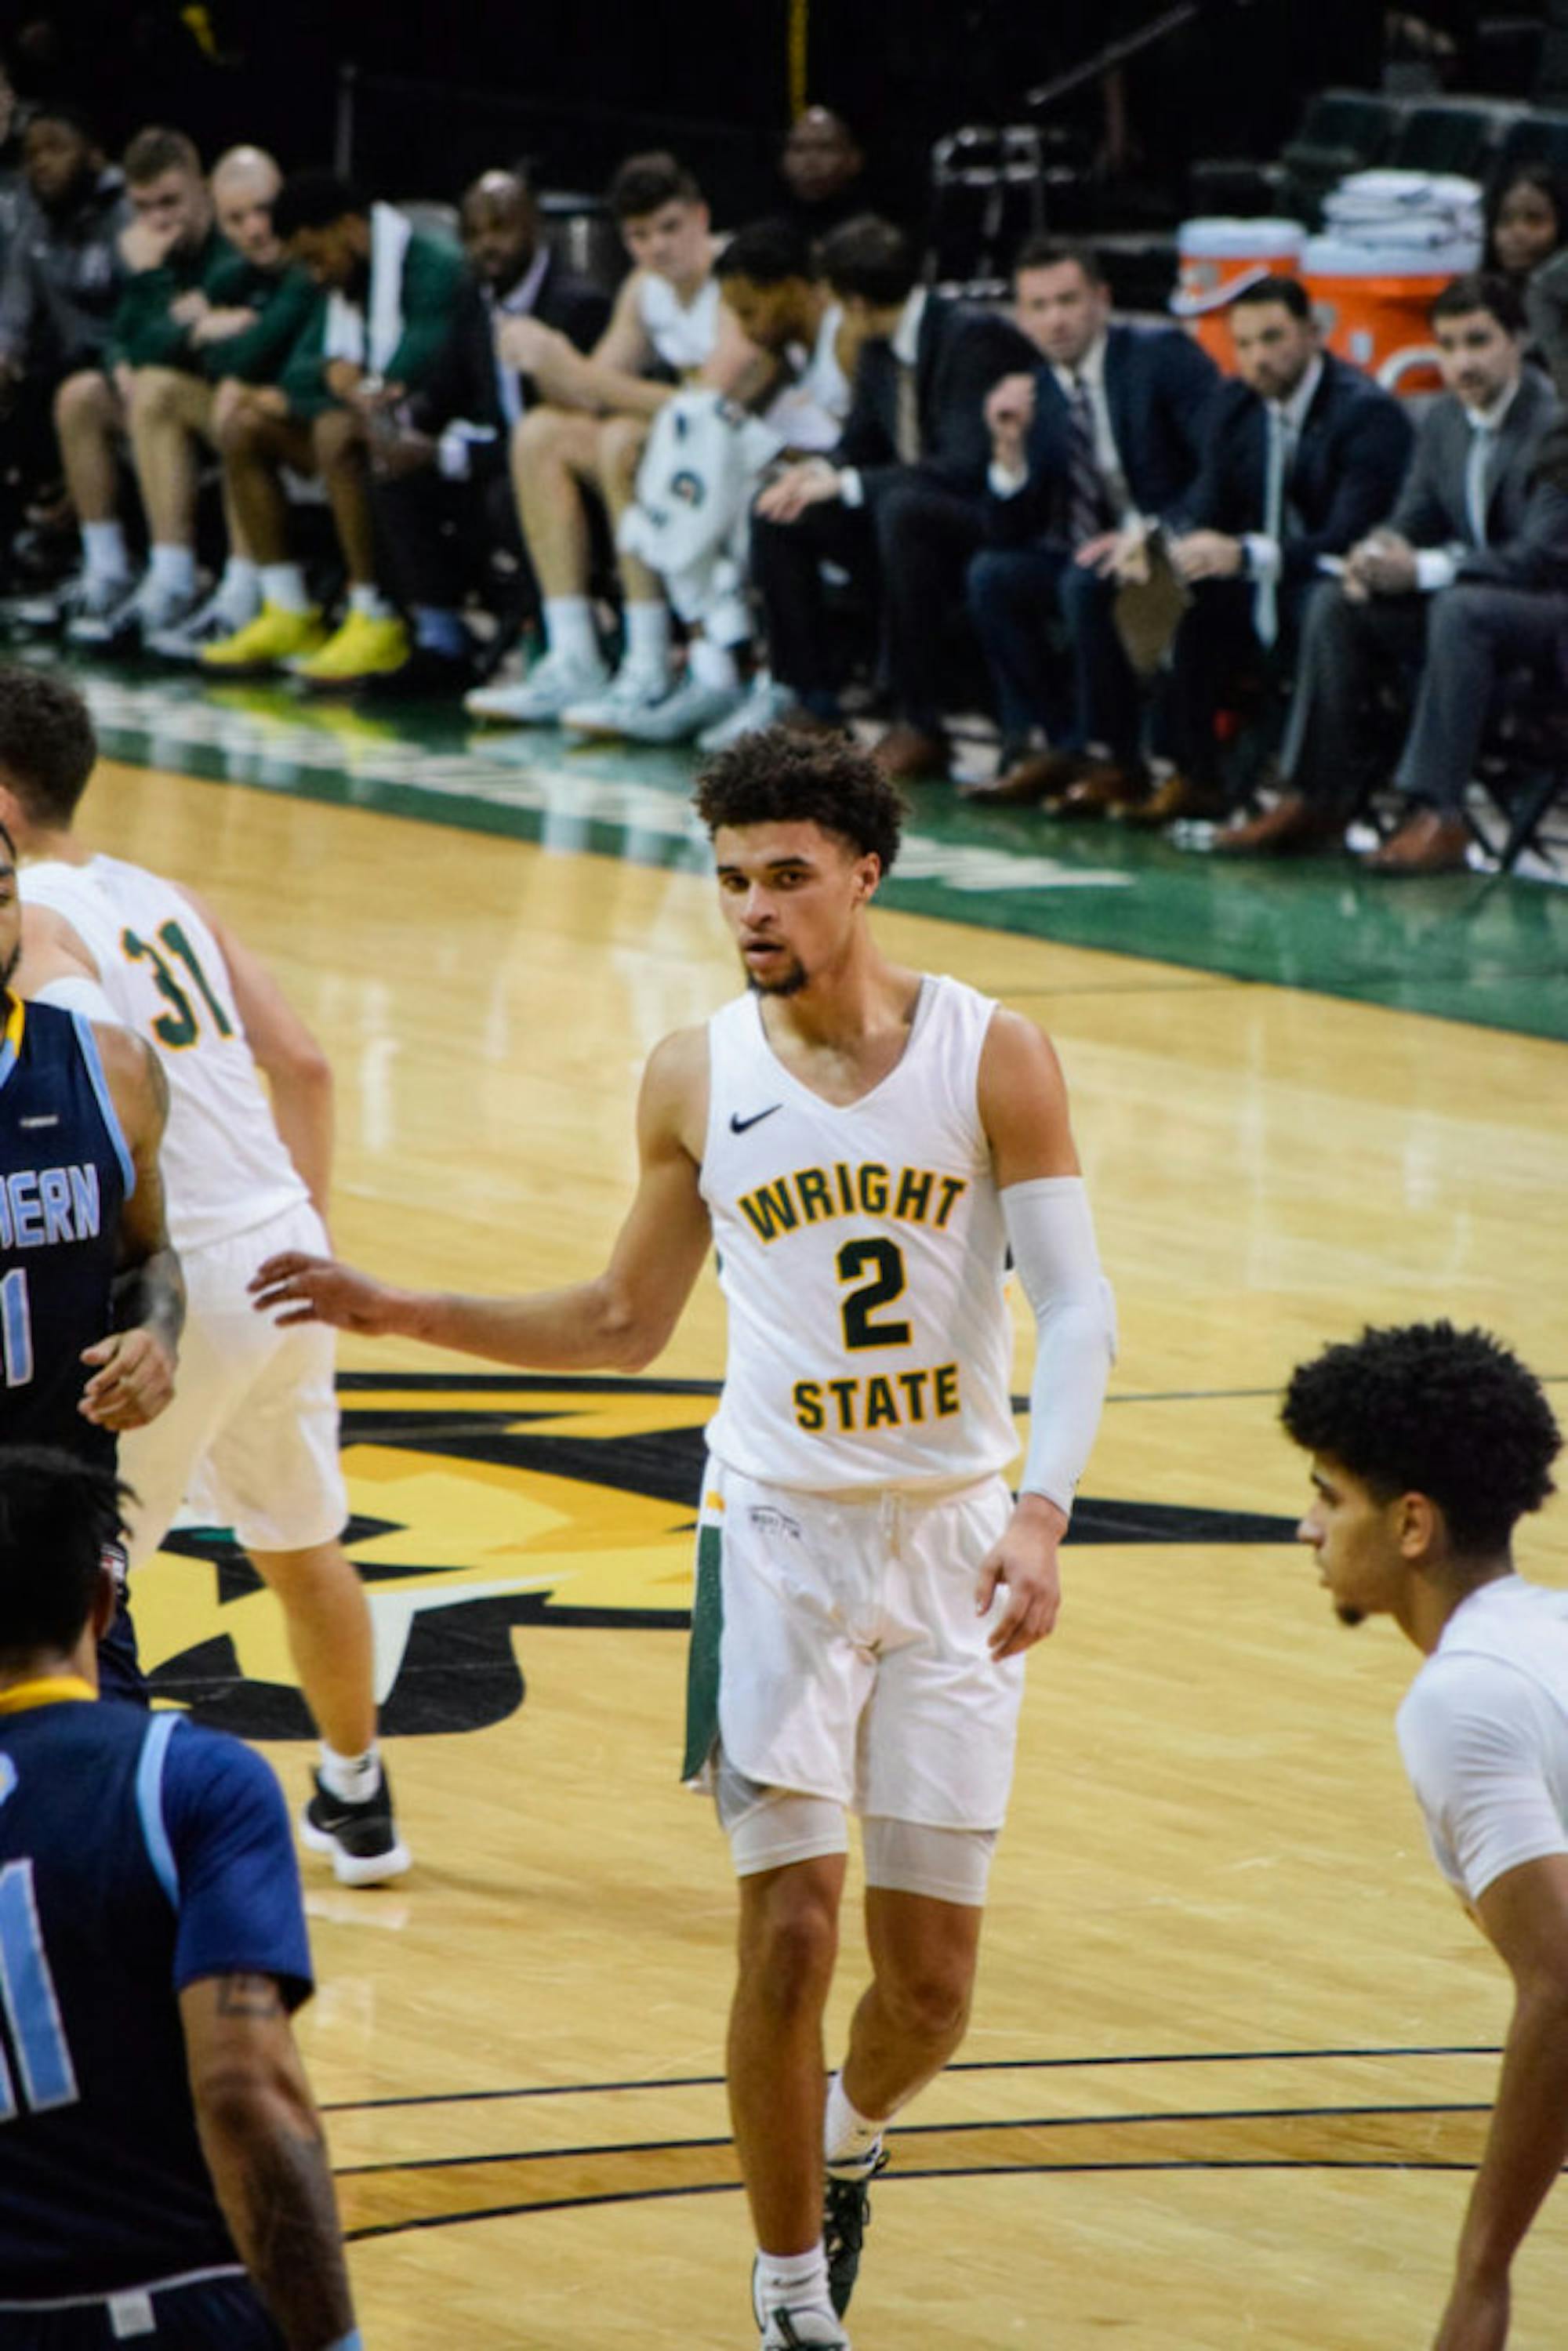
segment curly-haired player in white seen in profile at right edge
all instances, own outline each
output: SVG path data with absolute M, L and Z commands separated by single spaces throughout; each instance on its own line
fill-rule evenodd
M 1540 1380 L 1486 1331 L 1363 1331 L 1298 1366 L 1300 1523 L 1345 1625 L 1392 1615 L 1425 1665 L 1399 1749 L 1436 1867 L 1514 1977 L 1497 2104 L 1434 2351 L 1502 2351 L 1509 2269 L 1568 2163 L 1568 1592 L 1514 1573 L 1552 1493 Z

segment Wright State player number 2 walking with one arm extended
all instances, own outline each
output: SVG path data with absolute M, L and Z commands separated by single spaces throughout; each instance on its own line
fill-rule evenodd
M 1023 1653 L 1056 1622 L 1114 1319 L 1056 1053 L 872 940 L 896 788 L 851 745 L 771 729 L 696 804 L 750 992 L 654 1051 L 609 1267 L 534 1298 L 440 1298 L 282 1255 L 256 1293 L 282 1321 L 639 1371 L 717 1244 L 731 1328 L 686 1773 L 741 1878 L 729 2092 L 762 2342 L 844 2351 L 882 2132 L 969 2020 Z M 1016 1502 L 1009 1251 L 1037 1321 Z M 851 1810 L 875 1975 L 823 2106 Z

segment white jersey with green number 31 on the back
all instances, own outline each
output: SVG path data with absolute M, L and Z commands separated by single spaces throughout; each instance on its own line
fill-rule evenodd
M 71 924 L 99 966 L 115 1020 L 146 1037 L 162 1063 L 174 1246 L 228 1241 L 308 1199 L 273 1124 L 228 966 L 190 900 L 120 858 L 28 865 L 21 896 Z

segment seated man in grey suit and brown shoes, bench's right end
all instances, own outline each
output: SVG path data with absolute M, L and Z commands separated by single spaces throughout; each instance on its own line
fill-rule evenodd
M 1420 677 L 1396 769 L 1410 813 L 1375 872 L 1465 863 L 1465 788 L 1509 665 L 1556 675 L 1568 628 L 1568 498 L 1540 475 L 1552 386 L 1523 364 L 1526 315 L 1505 277 L 1455 277 L 1432 306 L 1446 395 L 1427 409 L 1399 505 L 1312 592 L 1281 757 L 1284 797 L 1215 849 L 1312 851 L 1345 832 L 1378 778 L 1373 691 Z

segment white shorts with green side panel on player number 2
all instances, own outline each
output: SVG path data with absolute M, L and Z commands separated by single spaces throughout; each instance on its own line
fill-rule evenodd
M 1001 1665 L 976 1575 L 1004 1481 L 839 1500 L 708 1462 L 691 1615 L 686 1770 L 933 1829 L 999 1829 L 1023 1657 Z

